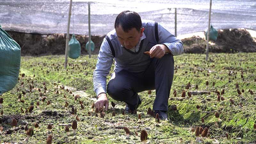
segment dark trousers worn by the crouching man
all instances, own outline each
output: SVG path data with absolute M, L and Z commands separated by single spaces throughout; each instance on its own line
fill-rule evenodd
M 162 58 L 153 58 L 149 67 L 141 73 L 125 70 L 112 74 L 107 85 L 108 95 L 117 101 L 136 106 L 137 92 L 156 89 L 156 99 L 153 110 L 168 110 L 168 98 L 174 74 L 174 60 L 171 54 Z

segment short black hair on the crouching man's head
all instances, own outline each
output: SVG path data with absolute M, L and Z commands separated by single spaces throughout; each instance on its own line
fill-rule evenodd
M 115 21 L 115 28 L 122 26 L 124 32 L 128 33 L 132 28 L 140 31 L 142 26 L 140 15 L 133 11 L 123 11 L 118 14 Z

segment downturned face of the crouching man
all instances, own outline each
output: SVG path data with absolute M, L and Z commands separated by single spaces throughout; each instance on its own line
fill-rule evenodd
M 138 31 L 136 28 L 132 28 L 128 33 L 124 32 L 122 26 L 116 28 L 116 35 L 118 41 L 127 49 L 131 49 L 138 44 L 140 37 L 143 35 L 144 28 Z

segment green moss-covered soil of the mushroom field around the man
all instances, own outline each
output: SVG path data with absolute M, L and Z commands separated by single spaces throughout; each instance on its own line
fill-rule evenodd
M 191 128 L 201 126 L 209 128 L 209 135 L 203 143 L 255 143 L 256 132 L 253 124 L 256 123 L 256 53 L 235 53 L 235 54 L 213 54 L 209 55 L 210 61 L 205 62 L 205 55 L 182 54 L 175 56 L 175 73 L 169 98 L 168 121 L 160 121 L 157 127 L 155 119 L 147 116 L 147 109 L 153 107 L 155 90 L 152 96 L 148 92 L 140 92 L 142 104 L 137 114 L 122 115 L 123 102 L 116 102 L 116 116 L 112 116 L 112 106 L 105 112 L 104 118 L 91 116 L 91 105 L 95 100 L 93 92 L 92 73 L 97 62 L 97 55 L 91 59 L 88 56 L 81 56 L 76 60 L 68 59 L 67 70 L 63 68 L 64 56 L 42 56 L 22 57 L 19 81 L 15 88 L 4 93 L 2 97 L 3 133 L 0 135 L 0 142 L 25 143 L 26 138 L 24 127 L 34 128 L 34 135 L 29 138 L 28 143 L 46 143 L 48 134 L 53 135 L 53 143 L 141 143 L 141 130 L 148 133 L 148 143 L 195 143 L 195 133 L 191 135 Z M 113 72 L 114 66 L 111 68 Z M 25 74 L 22 77 L 22 74 Z M 243 77 L 243 78 L 241 78 Z M 108 75 L 108 79 L 110 75 Z M 32 84 L 33 81 L 33 84 Z M 108 81 L 108 80 L 107 80 Z M 206 81 L 209 82 L 208 88 Z M 186 85 L 190 82 L 190 89 Z M 212 83 L 215 83 L 212 86 Z M 24 83 L 24 84 L 22 84 Z M 45 83 L 45 85 L 44 85 Z M 55 84 L 54 84 L 55 83 Z M 237 83 L 237 84 L 236 84 Z M 221 92 L 225 89 L 223 97 L 225 100 L 217 101 L 217 94 L 192 95 L 188 97 L 188 91 Z M 30 92 L 29 85 L 33 87 Z M 65 89 L 61 89 L 62 85 Z M 242 96 L 238 96 L 237 86 L 240 91 L 244 89 Z M 44 90 L 44 87 L 47 90 Z M 44 103 L 40 101 L 40 92 L 46 97 Z M 74 88 L 74 89 L 72 89 Z M 72 92 L 67 92 L 67 89 Z M 252 90 L 253 94 L 248 92 Z M 59 94 L 56 94 L 57 90 Z M 177 97 L 173 96 L 176 90 Z M 180 100 L 182 90 L 186 91 L 186 98 Z M 26 94 L 22 94 L 24 91 Z M 18 102 L 18 95 L 21 100 Z M 77 101 L 74 95 L 80 95 Z M 65 100 L 64 95 L 67 97 Z M 232 107 L 229 99 L 234 100 L 235 107 Z M 47 105 L 48 100 L 50 104 Z M 79 100 L 83 101 L 84 109 L 81 109 Z M 40 102 L 40 109 L 36 108 L 36 102 Z M 65 102 L 69 103 L 65 108 Z M 32 113 L 22 113 L 34 102 Z M 200 105 L 200 111 L 196 105 Z M 175 113 L 172 109 L 177 107 Z M 72 124 L 75 117 L 70 116 L 72 107 L 77 108 L 77 116 L 80 118 L 76 130 L 76 136 L 65 133 L 65 125 Z M 217 110 L 220 113 L 221 122 L 218 122 L 214 113 L 204 113 Z M 204 111 L 204 112 L 203 112 Z M 137 123 L 138 114 L 141 114 L 142 123 Z M 12 118 L 17 119 L 18 125 L 11 126 Z M 205 124 L 201 119 L 204 118 Z M 39 130 L 35 131 L 34 123 L 39 124 Z M 216 123 L 217 122 L 217 125 Z M 53 124 L 52 132 L 48 132 L 47 125 Z M 126 139 L 124 126 L 131 131 L 130 139 Z M 72 133 L 72 128 L 69 130 Z M 227 140 L 226 133 L 231 140 Z M 182 139 L 182 141 L 180 140 Z

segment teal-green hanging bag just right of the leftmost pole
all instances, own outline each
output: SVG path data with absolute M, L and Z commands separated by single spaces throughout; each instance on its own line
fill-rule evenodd
M 81 55 L 81 45 L 76 40 L 75 35 L 73 34 L 72 38 L 68 42 L 68 57 L 71 59 L 77 59 Z

